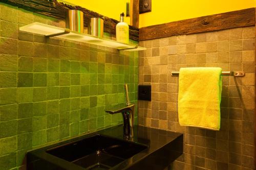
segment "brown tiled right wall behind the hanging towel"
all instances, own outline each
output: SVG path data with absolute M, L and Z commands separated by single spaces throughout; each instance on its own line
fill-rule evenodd
M 139 125 L 184 133 L 184 154 L 175 169 L 254 169 L 255 29 L 141 41 L 139 83 L 152 85 L 152 101 L 139 101 Z M 244 71 L 245 77 L 223 76 L 221 129 L 180 126 L 178 77 L 182 67 L 221 67 Z

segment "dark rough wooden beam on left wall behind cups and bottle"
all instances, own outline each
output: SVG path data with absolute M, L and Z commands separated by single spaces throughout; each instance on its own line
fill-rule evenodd
M 65 19 L 67 9 L 78 9 L 84 12 L 84 27 L 87 27 L 89 18 L 101 17 L 104 19 L 104 32 L 111 35 L 116 35 L 116 24 L 118 20 L 103 16 L 97 12 L 90 11 L 80 6 L 70 6 L 63 3 L 58 3 L 56 0 L 2 0 L 1 3 L 17 6 L 38 14 L 51 16 L 57 19 Z M 139 29 L 134 26 L 130 27 L 130 39 L 139 40 Z

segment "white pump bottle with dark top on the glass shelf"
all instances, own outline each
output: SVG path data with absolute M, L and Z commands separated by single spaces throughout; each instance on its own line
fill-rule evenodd
M 124 13 L 120 14 L 120 22 L 116 25 L 116 40 L 129 44 L 129 25 L 123 21 Z

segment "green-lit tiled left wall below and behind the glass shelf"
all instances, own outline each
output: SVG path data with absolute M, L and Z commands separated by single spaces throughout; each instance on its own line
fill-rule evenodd
M 124 83 L 137 102 L 137 52 L 19 32 L 35 21 L 63 21 L 3 3 L 0 18 L 1 170 L 25 169 L 27 150 L 122 123 L 104 110 L 125 102 Z

